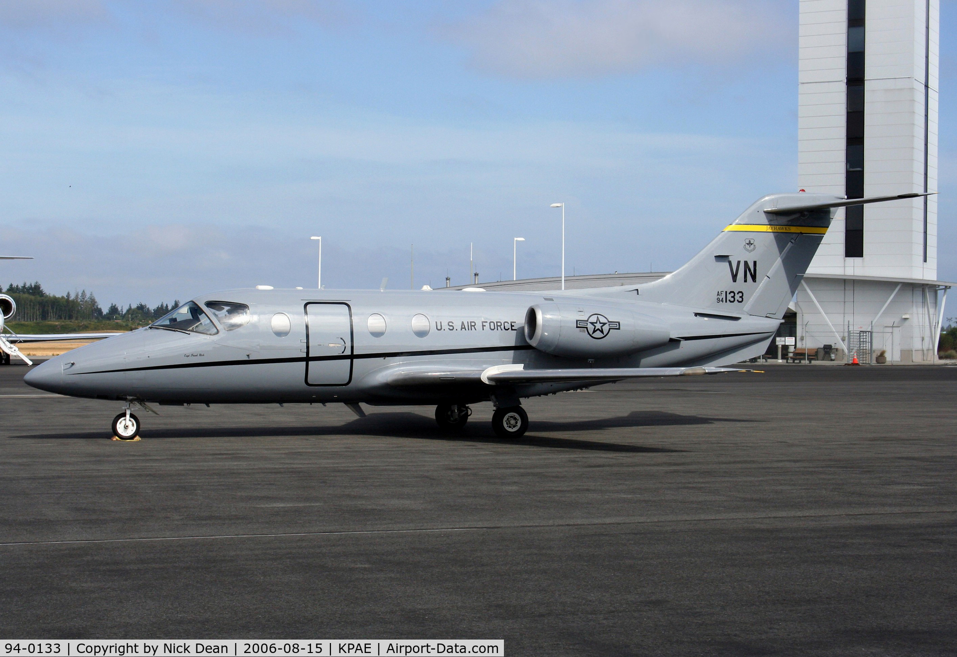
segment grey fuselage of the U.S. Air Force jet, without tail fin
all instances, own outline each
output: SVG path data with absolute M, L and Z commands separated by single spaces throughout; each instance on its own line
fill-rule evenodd
M 740 360 L 741 350 L 748 347 L 763 352 L 780 323 L 740 315 L 702 317 L 695 309 L 645 303 L 631 295 L 219 292 L 194 301 L 201 307 L 216 300 L 246 304 L 251 315 L 247 324 L 228 331 L 217 322 L 215 335 L 140 329 L 57 357 L 43 365 L 42 378 L 35 371 L 30 383 L 77 397 L 163 404 L 473 403 L 488 399 L 488 386 L 474 378 L 456 381 L 456 370 L 515 363 L 526 369 L 720 365 Z M 526 313 L 538 302 L 570 306 L 583 321 L 600 307 L 612 326 L 645 313 L 664 323 L 673 339 L 627 356 L 554 356 L 525 339 Z M 615 309 L 620 309 L 620 318 Z M 617 338 L 615 332 L 627 328 L 607 328 L 606 339 Z M 448 376 L 428 386 L 396 383 L 392 375 L 411 367 L 448 370 Z M 581 386 L 529 383 L 519 386 L 517 394 L 529 397 Z

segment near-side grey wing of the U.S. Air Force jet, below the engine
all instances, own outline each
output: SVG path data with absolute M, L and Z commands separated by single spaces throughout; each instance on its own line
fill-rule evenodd
M 486 369 L 430 368 L 416 365 L 389 372 L 389 385 L 522 385 L 528 383 L 611 383 L 644 377 L 678 377 L 699 374 L 742 372 L 730 367 L 593 367 L 568 369 L 524 369 L 523 364 L 495 365 Z

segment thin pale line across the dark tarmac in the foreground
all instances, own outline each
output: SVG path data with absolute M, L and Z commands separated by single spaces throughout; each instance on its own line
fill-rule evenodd
M 423 527 L 413 529 L 367 529 L 344 530 L 329 532 L 282 532 L 277 534 L 223 534 L 209 536 L 187 537 L 133 537 L 133 538 L 78 538 L 74 540 L 28 540 L 19 542 L 0 543 L 0 547 L 38 546 L 38 545 L 82 545 L 93 543 L 146 543 L 174 540 L 222 540 L 231 538 L 295 538 L 295 537 L 338 537 L 338 536 L 367 536 L 375 534 L 438 534 L 441 532 L 492 532 L 515 529 L 574 529 L 577 527 L 611 527 L 615 525 L 654 525 L 677 524 L 686 522 L 723 522 L 727 520 L 776 520 L 788 518 L 829 518 L 829 517 L 861 517 L 879 515 L 930 515 L 930 514 L 957 514 L 955 507 L 898 509 L 885 511 L 860 512 L 831 512 L 808 514 L 793 512 L 786 514 L 728 514 L 702 516 L 676 516 L 666 518 L 645 519 L 618 519 L 599 522 L 564 522 L 539 523 L 517 525 L 477 525 L 472 527 Z

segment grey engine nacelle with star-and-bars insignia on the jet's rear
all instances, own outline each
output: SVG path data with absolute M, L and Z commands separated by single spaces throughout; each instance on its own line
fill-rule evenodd
M 628 356 L 667 344 L 671 332 L 656 318 L 604 303 L 540 303 L 525 313 L 525 339 L 568 358 Z

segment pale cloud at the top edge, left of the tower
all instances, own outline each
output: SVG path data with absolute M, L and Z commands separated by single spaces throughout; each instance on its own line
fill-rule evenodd
M 447 34 L 506 77 L 595 77 L 779 52 L 794 30 L 763 0 L 500 0 Z

